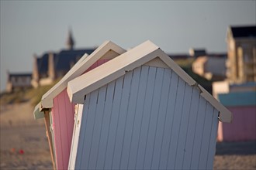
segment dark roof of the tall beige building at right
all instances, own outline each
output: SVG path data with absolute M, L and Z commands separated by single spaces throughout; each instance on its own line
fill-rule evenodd
M 234 38 L 256 38 L 256 26 L 231 26 L 230 29 Z

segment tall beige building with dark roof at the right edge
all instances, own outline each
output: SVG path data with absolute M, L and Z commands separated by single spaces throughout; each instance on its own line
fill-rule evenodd
M 230 82 L 256 82 L 256 26 L 227 29 L 227 77 Z

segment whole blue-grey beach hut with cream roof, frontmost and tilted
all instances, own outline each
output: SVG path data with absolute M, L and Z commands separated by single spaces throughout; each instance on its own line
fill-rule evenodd
M 232 114 L 147 41 L 67 84 L 78 109 L 70 169 L 213 168 Z

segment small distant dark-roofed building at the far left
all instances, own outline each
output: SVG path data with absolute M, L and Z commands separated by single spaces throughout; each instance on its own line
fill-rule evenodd
M 9 73 L 7 72 L 6 92 L 25 89 L 31 87 L 31 73 Z

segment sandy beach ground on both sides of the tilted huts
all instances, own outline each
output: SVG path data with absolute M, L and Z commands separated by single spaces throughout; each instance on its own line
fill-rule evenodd
M 29 102 L 0 108 L 0 169 L 52 169 L 43 120 Z M 217 143 L 214 169 L 256 169 L 255 141 Z

